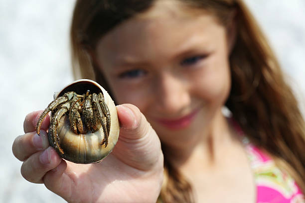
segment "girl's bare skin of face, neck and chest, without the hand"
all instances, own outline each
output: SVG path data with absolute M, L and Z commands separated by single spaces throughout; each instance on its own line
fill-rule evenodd
M 116 101 L 146 116 L 198 202 L 255 201 L 243 146 L 221 112 L 234 29 L 234 22 L 224 27 L 202 10 L 157 1 L 104 36 L 93 56 Z M 188 125 L 176 122 L 194 112 Z

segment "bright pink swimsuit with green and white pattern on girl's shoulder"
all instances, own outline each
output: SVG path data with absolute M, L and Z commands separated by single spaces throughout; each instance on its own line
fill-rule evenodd
M 233 121 L 237 132 L 241 128 Z M 257 203 L 305 203 L 305 196 L 295 180 L 284 170 L 280 170 L 274 160 L 243 136 L 251 168 L 257 185 Z

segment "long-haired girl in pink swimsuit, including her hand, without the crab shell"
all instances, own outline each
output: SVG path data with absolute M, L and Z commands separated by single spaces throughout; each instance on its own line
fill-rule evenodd
M 76 79 L 131 103 L 119 141 L 69 163 L 30 113 L 13 143 L 25 179 L 68 202 L 305 202 L 305 123 L 241 0 L 78 0 L 71 44 Z

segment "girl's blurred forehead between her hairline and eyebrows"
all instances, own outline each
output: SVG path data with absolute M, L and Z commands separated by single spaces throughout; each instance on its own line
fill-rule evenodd
M 157 0 L 146 12 L 118 25 L 101 38 L 97 52 L 108 59 L 121 55 L 157 57 L 188 42 L 211 40 L 220 25 L 204 9 L 191 8 L 177 0 Z

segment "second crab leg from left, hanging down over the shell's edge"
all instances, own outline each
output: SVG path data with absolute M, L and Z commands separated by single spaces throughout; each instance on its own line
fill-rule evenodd
M 58 149 L 58 151 L 61 154 L 64 154 L 63 150 L 61 149 L 60 145 L 59 145 L 59 137 L 58 134 L 56 132 L 56 126 L 60 120 L 60 118 L 70 109 L 70 103 L 64 103 L 60 106 L 60 108 L 56 111 L 56 113 L 54 114 L 54 116 L 52 116 L 52 121 L 51 121 L 51 126 L 50 126 L 50 130 L 52 133 L 52 140 L 53 140 L 53 144 L 55 145 L 55 148 Z

